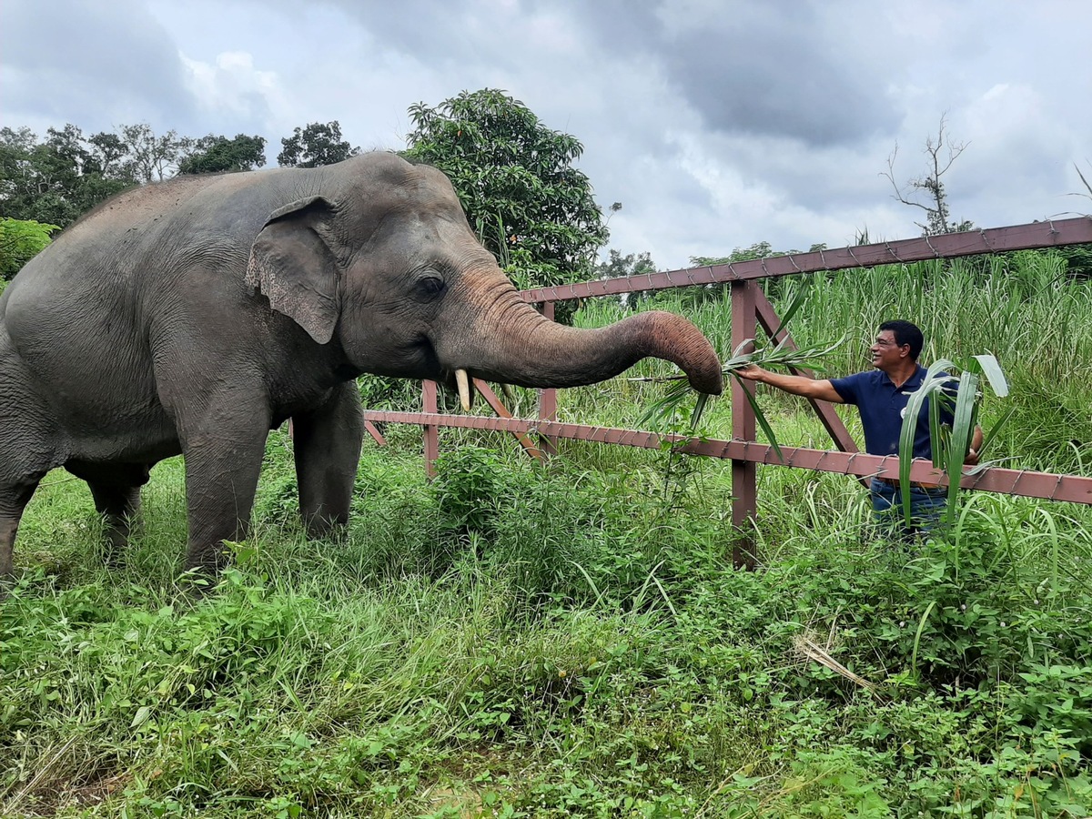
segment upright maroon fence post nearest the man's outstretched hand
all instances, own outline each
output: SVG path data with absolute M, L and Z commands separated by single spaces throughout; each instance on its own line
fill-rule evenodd
M 732 348 L 737 349 L 748 339 L 755 337 L 758 324 L 756 312 L 757 285 L 753 282 L 733 282 L 732 285 Z M 732 438 L 755 440 L 755 411 L 744 390 L 755 392 L 753 382 L 740 384 L 732 380 Z M 755 512 L 758 508 L 757 466 L 752 461 L 732 461 L 732 526 L 734 541 L 732 562 L 753 569 L 758 562 L 755 538 L 751 535 Z

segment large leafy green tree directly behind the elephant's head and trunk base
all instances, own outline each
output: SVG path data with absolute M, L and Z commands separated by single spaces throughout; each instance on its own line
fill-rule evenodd
M 502 91 L 462 92 L 410 108 L 404 155 L 451 179 L 470 224 L 518 287 L 590 278 L 606 244 L 575 136 L 546 128 Z

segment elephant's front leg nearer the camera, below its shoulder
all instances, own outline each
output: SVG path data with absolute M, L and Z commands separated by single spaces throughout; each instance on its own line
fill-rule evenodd
M 189 523 L 187 570 L 215 572 L 223 568 L 227 562 L 224 541 L 242 541 L 249 534 L 269 435 L 265 417 L 257 412 L 246 428 L 201 432 L 182 443 Z

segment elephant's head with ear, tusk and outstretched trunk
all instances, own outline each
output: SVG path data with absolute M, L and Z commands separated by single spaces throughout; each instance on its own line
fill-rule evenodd
M 247 281 L 316 342 L 340 344 L 353 375 L 577 387 L 655 356 L 722 391 L 715 351 L 679 316 L 580 330 L 523 302 L 439 170 L 375 153 L 312 175 L 262 227 Z

